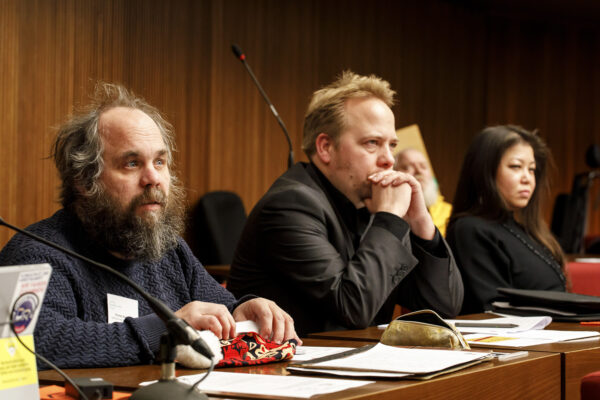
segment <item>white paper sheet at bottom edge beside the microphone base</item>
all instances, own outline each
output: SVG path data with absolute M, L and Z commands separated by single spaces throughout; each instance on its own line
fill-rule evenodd
M 202 375 L 186 375 L 177 378 L 177 380 L 192 385 Z M 150 383 L 152 382 L 144 382 L 140 386 L 146 386 Z M 308 399 L 317 394 L 339 392 L 369 383 L 374 383 L 374 381 L 213 371 L 199 385 L 199 389 L 202 392 L 210 394 L 229 393 L 249 396 Z

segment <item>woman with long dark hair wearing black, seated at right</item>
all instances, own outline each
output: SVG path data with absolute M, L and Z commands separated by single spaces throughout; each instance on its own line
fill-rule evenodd
M 480 132 L 463 161 L 447 240 L 462 273 L 461 314 L 491 309 L 497 288 L 564 291 L 564 254 L 541 215 L 550 151 L 517 126 Z

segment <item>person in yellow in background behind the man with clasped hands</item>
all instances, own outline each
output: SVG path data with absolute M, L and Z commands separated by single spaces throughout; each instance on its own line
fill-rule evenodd
M 446 224 L 452 213 L 452 204 L 444 201 L 444 196 L 440 194 L 438 183 L 431 172 L 425 155 L 417 149 L 406 148 L 396 155 L 394 169 L 408 172 L 421 183 L 425 204 L 431 214 L 433 223 L 442 236 L 446 236 Z

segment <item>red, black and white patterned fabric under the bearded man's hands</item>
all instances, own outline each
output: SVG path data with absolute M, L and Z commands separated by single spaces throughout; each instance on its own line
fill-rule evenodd
M 233 339 L 221 340 L 223 359 L 217 367 L 243 367 L 288 360 L 296 353 L 296 341 L 281 344 L 263 339 L 258 333 L 248 332 Z

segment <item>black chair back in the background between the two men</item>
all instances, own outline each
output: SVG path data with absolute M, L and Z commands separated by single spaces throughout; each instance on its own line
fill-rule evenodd
M 192 250 L 204 265 L 229 265 L 246 223 L 242 199 L 232 192 L 208 192 L 191 213 Z

